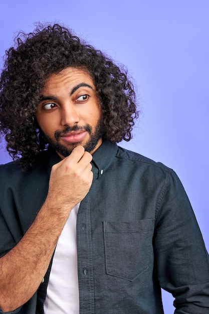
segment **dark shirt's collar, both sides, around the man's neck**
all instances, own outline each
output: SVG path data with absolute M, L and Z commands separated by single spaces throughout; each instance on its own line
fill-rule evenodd
M 118 146 L 116 144 L 111 143 L 108 139 L 104 139 L 99 148 L 93 153 L 91 164 L 94 180 L 99 179 L 104 174 L 112 163 L 117 150 Z M 61 158 L 51 146 L 48 148 L 48 156 L 47 170 L 50 176 L 52 166 L 59 163 Z

